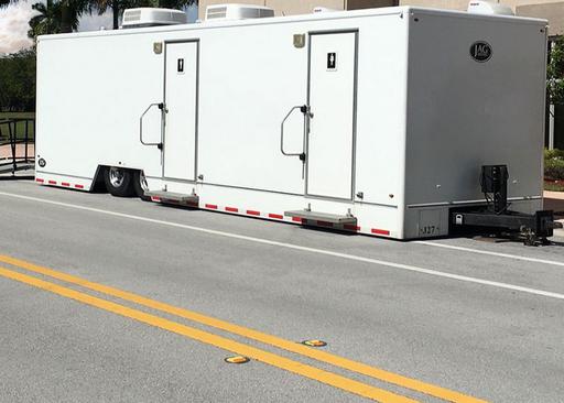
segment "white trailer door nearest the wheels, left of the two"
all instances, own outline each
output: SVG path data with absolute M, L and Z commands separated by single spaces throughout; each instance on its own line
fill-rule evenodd
M 163 176 L 195 181 L 198 42 L 165 44 Z

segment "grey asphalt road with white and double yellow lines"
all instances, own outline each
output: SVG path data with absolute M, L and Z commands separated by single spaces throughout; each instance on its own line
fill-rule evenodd
M 554 240 L 398 242 L 0 181 L 0 402 L 562 402 Z

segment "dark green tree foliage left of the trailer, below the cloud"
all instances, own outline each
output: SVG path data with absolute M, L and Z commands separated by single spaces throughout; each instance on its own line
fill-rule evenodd
M 0 110 L 35 110 L 35 51 L 0 57 Z

